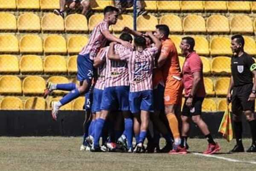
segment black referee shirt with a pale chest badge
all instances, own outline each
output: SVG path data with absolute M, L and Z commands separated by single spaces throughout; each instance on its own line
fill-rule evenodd
M 231 73 L 234 80 L 234 86 L 242 86 L 253 83 L 253 73 L 250 67 L 254 64 L 254 60 L 247 53 L 242 56 L 232 56 Z

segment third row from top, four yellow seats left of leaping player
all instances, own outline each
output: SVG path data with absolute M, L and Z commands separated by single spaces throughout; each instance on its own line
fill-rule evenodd
M 87 36 L 70 36 L 66 40 L 63 36 L 50 35 L 42 41 L 38 35 L 28 34 L 20 38 L 12 34 L 0 35 L 0 53 L 79 53 L 87 45 Z

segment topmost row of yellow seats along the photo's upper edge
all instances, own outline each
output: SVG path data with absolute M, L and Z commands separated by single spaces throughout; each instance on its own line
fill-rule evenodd
M 56 9 L 59 0 L 0 0 L 0 9 Z M 17 1 L 17 3 L 16 3 Z M 93 10 L 103 10 L 112 5 L 113 0 L 91 0 Z M 256 3 L 249 1 L 175 1 L 175 0 L 145 0 L 146 10 L 152 11 L 256 11 Z M 130 8 L 132 10 L 132 8 Z

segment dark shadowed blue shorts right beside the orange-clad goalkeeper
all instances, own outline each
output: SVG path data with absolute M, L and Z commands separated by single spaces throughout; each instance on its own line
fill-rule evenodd
M 160 111 L 164 109 L 164 87 L 161 84 L 157 85 L 157 89 L 153 90 L 154 96 L 154 111 Z

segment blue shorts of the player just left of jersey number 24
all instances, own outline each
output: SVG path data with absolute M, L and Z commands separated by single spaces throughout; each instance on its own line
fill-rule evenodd
M 102 110 L 129 111 L 129 86 L 107 87 L 103 91 Z

